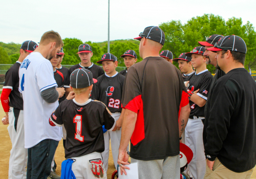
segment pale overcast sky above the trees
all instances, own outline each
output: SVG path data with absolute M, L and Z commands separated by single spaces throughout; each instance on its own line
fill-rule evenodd
M 39 42 L 49 30 L 62 39 L 108 40 L 108 0 L 0 0 L 0 41 Z M 256 26 L 256 1 L 110 0 L 110 40 L 131 39 L 145 27 L 171 20 L 184 24 L 203 14 L 242 18 Z M 209 34 L 210 35 L 210 34 Z

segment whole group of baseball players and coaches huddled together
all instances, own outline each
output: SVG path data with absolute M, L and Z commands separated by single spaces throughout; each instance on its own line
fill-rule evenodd
M 114 54 L 102 55 L 102 68 L 91 62 L 87 43 L 78 47 L 81 62 L 65 68 L 63 42 L 54 31 L 39 45 L 23 42 L 1 95 L 12 142 L 9 178 L 60 178 L 54 155 L 61 138 L 67 159 L 61 178 L 106 178 L 110 144 L 121 174 L 130 169 L 129 153 L 142 179 L 250 178 L 256 84 L 244 69 L 244 40 L 214 34 L 173 58 L 161 50 L 159 27 L 135 39 L 143 60 L 127 49 L 119 73 Z M 207 64 L 216 67 L 214 77 Z M 184 172 L 180 143 L 193 152 Z

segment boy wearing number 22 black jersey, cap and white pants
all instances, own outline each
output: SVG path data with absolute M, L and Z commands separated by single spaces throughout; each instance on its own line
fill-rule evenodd
M 102 64 L 105 74 L 97 78 L 98 82 L 95 83 L 93 86 L 91 98 L 93 100 L 102 101 L 110 109 L 111 113 L 113 113 L 113 115 L 115 116 L 118 127 L 118 130 L 116 130 L 115 132 L 106 131 L 104 133 L 105 151 L 102 153 L 102 156 L 104 164 L 108 164 L 110 144 L 109 141 L 111 139 L 113 160 L 115 163 L 115 167 L 117 168 L 118 149 L 121 139 L 120 127 L 122 126 L 121 99 L 125 77 L 120 73 L 116 72 L 118 62 L 117 57 L 115 57 L 113 54 L 103 54 L 101 60 L 97 63 Z M 105 169 L 106 171 L 108 170 L 108 165 L 105 165 Z

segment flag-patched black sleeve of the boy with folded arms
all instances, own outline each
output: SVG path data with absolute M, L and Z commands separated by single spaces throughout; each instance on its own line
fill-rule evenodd
M 207 72 L 205 72 L 205 73 L 207 73 Z M 201 98 L 207 100 L 211 82 L 212 82 L 211 74 L 204 76 L 204 78 L 202 78 L 202 85 L 200 86 L 200 89 L 199 89 L 199 92 L 197 93 L 197 95 L 200 96 Z M 197 89 L 195 89 L 195 90 L 197 90 Z

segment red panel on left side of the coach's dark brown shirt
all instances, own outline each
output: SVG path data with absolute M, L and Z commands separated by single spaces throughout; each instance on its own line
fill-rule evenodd
M 145 138 L 143 101 L 141 95 L 131 100 L 124 108 L 137 113 L 137 121 L 131 138 L 131 143 L 135 146 Z

